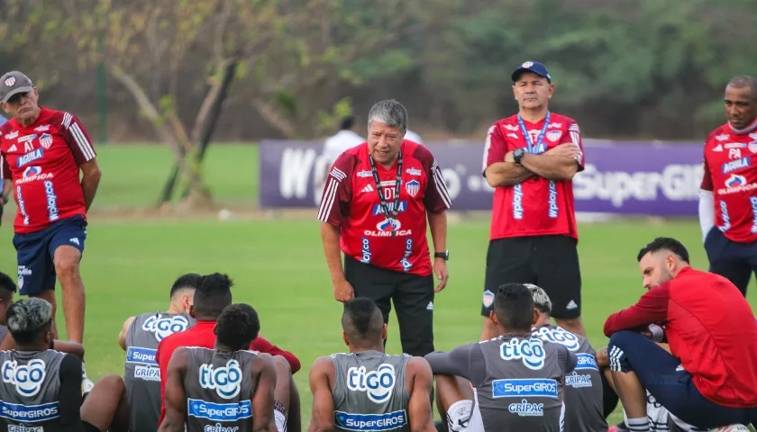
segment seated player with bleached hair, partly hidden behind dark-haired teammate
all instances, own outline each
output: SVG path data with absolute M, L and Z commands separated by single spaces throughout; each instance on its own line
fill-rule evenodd
M 524 284 L 534 297 L 539 319 L 534 325 L 534 337 L 544 342 L 561 344 L 578 357 L 576 368 L 565 377 L 565 429 L 581 432 L 607 432 L 603 411 L 602 374 L 597 356 L 587 338 L 570 333 L 550 321 L 552 302 L 542 288 Z

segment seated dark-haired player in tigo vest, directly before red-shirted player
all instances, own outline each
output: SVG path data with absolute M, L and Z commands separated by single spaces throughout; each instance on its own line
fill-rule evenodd
M 286 430 L 287 419 L 277 410 L 273 359 L 247 349 L 259 331 L 255 310 L 232 304 L 218 317 L 214 349 L 174 352 L 160 432 Z

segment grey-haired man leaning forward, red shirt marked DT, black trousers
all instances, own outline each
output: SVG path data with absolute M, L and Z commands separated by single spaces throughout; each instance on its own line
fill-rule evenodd
M 442 170 L 424 146 L 404 139 L 407 112 L 381 101 L 368 114 L 368 141 L 334 162 L 318 220 L 339 302 L 368 297 L 389 320 L 397 310 L 402 349 L 433 351 L 433 295 L 447 284 L 450 194 Z M 433 269 L 426 239 L 433 238 Z M 342 252 L 344 267 L 342 269 Z M 433 273 L 441 283 L 433 288 Z

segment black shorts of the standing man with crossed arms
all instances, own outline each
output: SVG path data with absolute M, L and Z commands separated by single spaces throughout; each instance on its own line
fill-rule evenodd
M 552 301 L 552 317 L 581 316 L 581 273 L 576 239 L 568 236 L 497 238 L 489 242 L 481 315 L 489 316 L 502 284 L 539 285 Z

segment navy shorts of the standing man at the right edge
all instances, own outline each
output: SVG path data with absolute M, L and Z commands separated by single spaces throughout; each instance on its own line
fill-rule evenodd
M 737 243 L 713 228 L 705 238 L 709 272 L 721 275 L 746 295 L 752 273 L 757 275 L 757 243 Z

